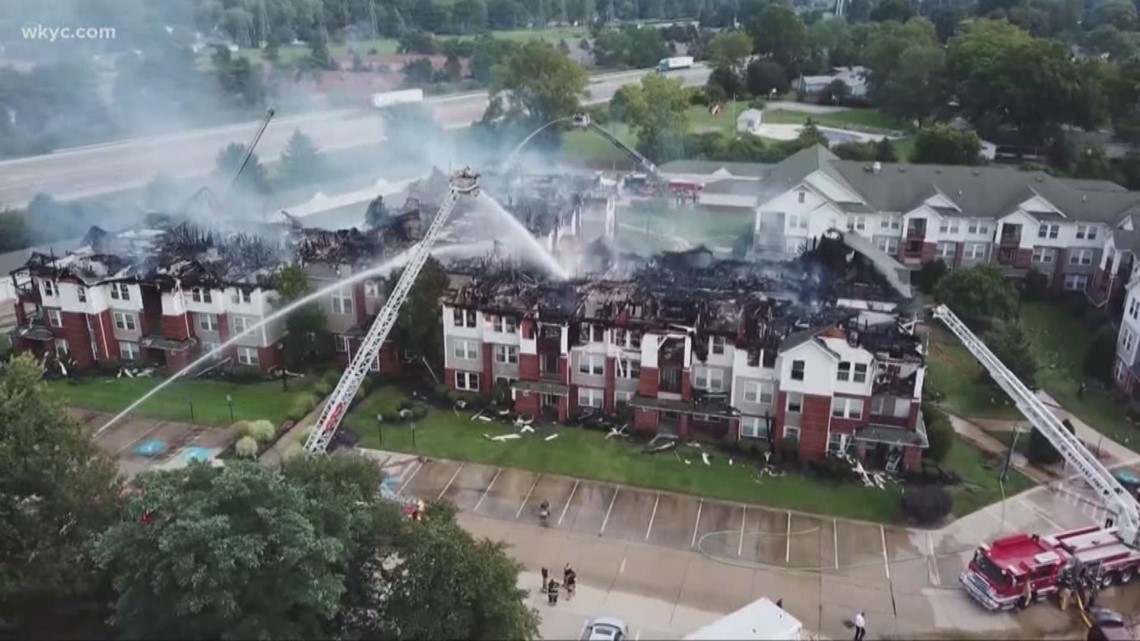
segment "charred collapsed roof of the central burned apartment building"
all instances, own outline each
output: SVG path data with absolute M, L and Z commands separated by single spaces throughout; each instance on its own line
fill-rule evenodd
M 899 389 L 905 387 L 899 379 L 925 362 L 914 332 L 915 302 L 841 237 L 821 238 L 785 262 L 717 259 L 705 248 L 665 252 L 641 259 L 622 278 L 551 281 L 497 259 L 454 263 L 449 271 L 448 305 L 564 325 L 571 344 L 588 342 L 594 327 L 629 332 L 637 344 L 646 332 L 689 335 L 700 339 L 691 343 L 693 355 L 706 362 L 708 339 L 720 336 L 747 350 L 749 366 L 772 367 L 780 351 L 799 342 L 844 338 L 880 362 L 910 363 L 881 381 Z M 668 338 L 660 347 L 662 362 L 684 348 L 683 340 Z

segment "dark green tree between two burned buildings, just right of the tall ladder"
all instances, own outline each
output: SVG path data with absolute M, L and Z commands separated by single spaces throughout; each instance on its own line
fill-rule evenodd
M 393 286 L 400 274 L 393 271 L 389 278 Z M 429 257 L 396 320 L 396 344 L 404 351 L 426 358 L 432 366 L 440 365 L 443 358 L 443 325 L 439 315 L 447 287 L 447 271 L 438 260 Z

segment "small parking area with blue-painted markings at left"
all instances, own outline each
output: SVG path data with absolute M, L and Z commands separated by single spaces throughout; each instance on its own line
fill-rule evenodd
M 112 419 L 101 412 L 68 409 L 73 419 L 97 433 L 95 441 L 119 462 L 128 477 L 152 468 L 178 468 L 194 460 L 211 461 L 234 440 L 229 430 L 127 416 L 99 432 Z

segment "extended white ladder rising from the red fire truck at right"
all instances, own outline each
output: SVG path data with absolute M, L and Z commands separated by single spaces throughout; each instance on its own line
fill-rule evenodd
M 1001 387 L 1017 408 L 1029 420 L 1057 452 L 1065 457 L 1066 463 L 1075 469 L 1081 478 L 1105 502 L 1106 509 L 1116 514 L 1115 526 L 1121 533 L 1121 539 L 1129 545 L 1137 545 L 1137 533 L 1140 530 L 1140 505 L 1126 489 L 1113 477 L 1097 457 L 1073 433 L 1065 428 L 1052 411 L 1045 406 L 1012 372 L 1010 372 L 982 339 L 945 305 L 934 309 L 934 317 L 942 320 L 953 332 L 966 349 L 986 368 L 986 372 Z M 1106 524 L 1110 527 L 1114 524 Z

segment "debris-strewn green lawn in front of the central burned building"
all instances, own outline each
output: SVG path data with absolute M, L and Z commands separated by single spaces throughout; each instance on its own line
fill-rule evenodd
M 514 433 L 499 423 L 471 421 L 469 414 L 431 411 L 416 423 L 415 447 L 412 430 L 405 424 L 378 427 L 375 415 L 400 399 L 400 392 L 381 389 L 369 396 L 345 419 L 360 436 L 363 447 L 393 452 L 414 452 L 426 456 L 473 461 L 505 468 L 519 468 L 543 473 L 617 482 L 630 486 L 694 494 L 709 498 L 756 503 L 772 508 L 799 510 L 841 518 L 891 522 L 898 518 L 898 486 L 886 490 L 868 489 L 855 484 L 831 484 L 799 474 L 780 478 L 756 473 L 756 465 L 735 460 L 728 465 L 726 455 L 712 454 L 712 464 L 701 462 L 700 451 L 682 446 L 675 453 L 641 454 L 638 445 L 626 439 L 606 439 L 600 431 L 556 427 L 523 435 L 521 439 L 496 443 L 483 435 Z M 381 438 L 381 430 L 383 431 Z M 544 440 L 557 433 L 553 440 Z M 708 446 L 706 446 L 708 447 Z M 691 464 L 685 464 L 687 459 Z M 954 513 L 962 514 L 1000 497 L 996 477 L 986 468 L 985 456 L 964 441 L 955 444 L 947 469 L 969 481 L 954 488 Z M 1024 478 L 1011 473 L 1007 492 L 1029 487 Z M 757 480 L 759 479 L 759 480 Z

